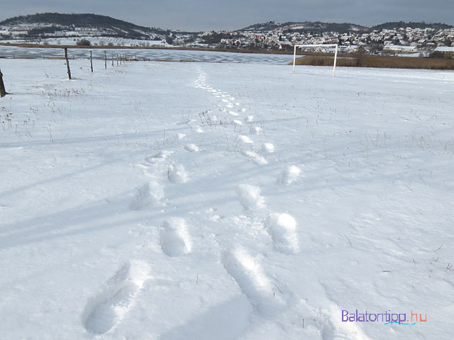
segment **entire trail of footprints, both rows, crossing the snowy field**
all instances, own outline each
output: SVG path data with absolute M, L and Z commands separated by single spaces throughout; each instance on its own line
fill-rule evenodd
M 232 96 L 206 85 L 206 74 L 204 72 L 201 72 L 199 79 L 194 82 L 194 87 L 204 89 L 219 98 L 224 106 L 221 111 L 235 118 L 232 120 L 233 124 L 243 125 L 243 121 L 239 117 L 240 113 L 245 113 L 246 109 L 240 109 L 240 103 L 236 102 Z M 236 110 L 234 110 L 235 108 Z M 244 121 L 252 122 L 253 116 L 248 115 Z M 250 132 L 258 134 L 260 130 L 260 127 L 254 127 Z M 202 133 L 204 131 L 200 127 L 196 127 L 196 132 Z M 182 140 L 185 135 L 179 134 L 177 137 Z M 243 145 L 254 144 L 253 140 L 245 135 L 238 135 L 237 142 Z M 200 151 L 199 147 L 194 144 L 187 144 L 183 147 L 188 152 Z M 258 151 L 262 154 L 272 154 L 275 152 L 275 147 L 272 143 L 267 142 Z M 164 188 L 154 174 L 167 173 L 168 181 L 175 184 L 186 183 L 189 180 L 189 174 L 182 164 L 169 164 L 165 169 L 172 153 L 162 150 L 145 158 L 143 166 L 150 181 L 136 189 L 129 207 L 131 210 L 144 210 L 153 205 L 161 205 L 165 200 Z M 259 166 L 268 164 L 267 159 L 258 152 L 242 150 L 240 153 Z M 277 178 L 277 183 L 290 185 L 297 180 L 300 172 L 301 170 L 295 165 L 286 166 Z M 298 253 L 300 249 L 298 225 L 294 217 L 287 213 L 269 212 L 265 198 L 261 196 L 260 188 L 257 186 L 240 184 L 236 187 L 236 195 L 246 214 L 258 213 L 263 216 L 263 228 L 277 251 L 287 256 Z M 187 223 L 182 218 L 173 217 L 162 222 L 159 242 L 162 252 L 170 258 L 184 256 L 192 251 L 192 238 Z M 248 298 L 250 305 L 262 317 L 275 315 L 287 306 L 288 302 L 285 295 L 282 291 L 279 292 L 280 294 L 276 294 L 277 285 L 263 271 L 260 261 L 249 254 L 242 246 L 236 245 L 233 246 L 233 249 L 223 251 L 221 263 Z M 129 261 L 123 265 L 104 284 L 99 293 L 87 302 L 82 315 L 85 329 L 91 334 L 104 334 L 114 328 L 118 322 L 121 322 L 128 310 L 133 307 L 140 289 L 149 278 L 149 274 L 150 266 L 144 261 Z M 323 339 L 331 339 L 329 336 L 333 337 L 339 333 L 336 331 L 338 327 L 334 327 L 329 318 L 327 322 L 321 329 Z M 352 339 L 355 339 L 355 336 Z

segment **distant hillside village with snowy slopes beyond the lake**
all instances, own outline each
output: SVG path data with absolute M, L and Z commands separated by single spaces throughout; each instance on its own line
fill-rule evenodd
M 330 28 L 329 25 L 341 24 L 270 23 L 272 23 L 270 26 L 257 24 L 243 30 L 203 33 L 153 28 L 127 31 L 112 26 L 61 26 L 55 23 L 19 23 L 14 26 L 0 24 L 0 42 L 76 45 L 84 40 L 92 45 L 143 47 L 158 45 L 282 51 L 293 50 L 293 46 L 297 44 L 338 44 L 341 52 L 354 52 L 359 48 L 372 54 L 454 52 L 454 28 L 382 28 L 365 33 L 362 26 L 345 24 L 350 25 L 344 29 L 346 33 L 338 33 L 323 29 Z

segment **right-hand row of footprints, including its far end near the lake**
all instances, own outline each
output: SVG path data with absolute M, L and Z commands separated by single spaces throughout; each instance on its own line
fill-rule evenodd
M 225 106 L 221 108 L 222 111 L 229 113 L 235 119 L 233 123 L 236 125 L 243 125 L 239 120 L 240 111 L 245 113 L 245 108 L 241 110 L 233 110 L 240 103 L 233 101 L 235 98 L 227 94 L 213 89 L 211 86 L 206 85 L 206 74 L 200 74 L 199 79 L 196 80 L 194 86 L 204 89 L 214 94 L 214 96 L 221 98 L 221 103 Z M 253 116 L 249 115 L 245 118 L 246 122 L 252 122 Z M 251 127 L 250 134 L 260 133 L 260 127 Z M 236 142 L 241 145 L 254 145 L 253 139 L 246 135 L 238 135 Z M 260 147 L 262 154 L 271 154 L 275 151 L 274 145 L 267 142 Z M 240 154 L 249 159 L 251 162 L 259 166 L 268 164 L 267 159 L 253 150 L 240 150 Z M 299 176 L 299 168 L 297 166 L 289 166 L 283 170 L 282 175 L 277 179 L 278 183 L 289 185 Z M 267 217 L 264 222 L 264 228 L 272 239 L 275 249 L 281 251 L 283 254 L 296 254 L 299 251 L 299 241 L 297 236 L 297 222 L 294 218 L 287 213 L 268 213 L 266 212 L 265 199 L 261 196 L 260 188 L 251 186 L 250 184 L 240 184 L 236 188 L 236 194 L 240 205 L 246 213 L 265 212 Z M 243 293 L 248 297 L 250 304 L 255 307 L 259 314 L 270 314 L 270 312 L 277 312 L 279 307 L 286 305 L 281 295 L 275 295 L 275 286 L 272 280 L 266 276 L 260 263 L 253 258 L 248 251 L 240 246 L 231 251 L 226 251 L 222 256 L 223 266 L 226 271 L 238 283 L 238 286 Z

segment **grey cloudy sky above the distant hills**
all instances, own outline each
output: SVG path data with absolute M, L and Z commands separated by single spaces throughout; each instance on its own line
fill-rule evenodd
M 233 30 L 266 21 L 326 21 L 372 26 L 387 21 L 454 25 L 453 0 L 1 0 L 0 21 L 43 12 L 96 13 L 141 26 Z

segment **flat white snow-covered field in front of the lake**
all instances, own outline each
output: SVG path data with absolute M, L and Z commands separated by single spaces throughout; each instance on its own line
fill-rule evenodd
M 1 339 L 452 338 L 453 72 L 71 67 L 0 60 Z

